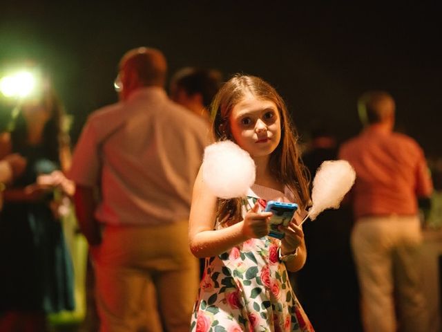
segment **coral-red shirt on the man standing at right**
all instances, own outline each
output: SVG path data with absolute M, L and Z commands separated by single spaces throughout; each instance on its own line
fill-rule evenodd
M 356 170 L 356 217 L 416 214 L 416 196 L 432 190 L 423 151 L 400 133 L 371 126 L 345 142 L 339 156 Z

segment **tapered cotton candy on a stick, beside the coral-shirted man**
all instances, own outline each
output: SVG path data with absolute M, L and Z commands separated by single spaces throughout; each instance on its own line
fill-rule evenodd
M 313 205 L 309 210 L 311 220 L 325 209 L 339 208 L 340 201 L 352 187 L 356 172 L 345 160 L 326 160 L 316 171 L 311 190 Z

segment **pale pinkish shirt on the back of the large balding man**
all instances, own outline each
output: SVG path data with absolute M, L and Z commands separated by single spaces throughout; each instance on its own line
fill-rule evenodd
M 95 139 L 102 164 L 97 219 L 147 225 L 188 217 L 208 137 L 203 120 L 151 87 L 96 111 L 85 131 L 93 131 L 88 139 Z

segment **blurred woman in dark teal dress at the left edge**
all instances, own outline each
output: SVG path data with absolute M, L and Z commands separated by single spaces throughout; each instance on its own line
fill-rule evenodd
M 73 268 L 59 217 L 73 185 L 64 112 L 52 86 L 21 105 L 3 133 L 0 158 L 17 153 L 26 169 L 3 192 L 0 214 L 0 331 L 46 331 L 46 315 L 72 310 Z

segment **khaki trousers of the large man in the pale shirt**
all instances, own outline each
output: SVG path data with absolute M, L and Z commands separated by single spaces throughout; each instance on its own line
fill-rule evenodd
M 199 270 L 187 221 L 106 226 L 92 254 L 100 331 L 189 331 Z

